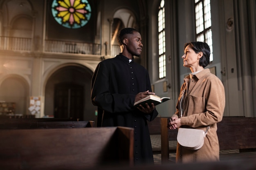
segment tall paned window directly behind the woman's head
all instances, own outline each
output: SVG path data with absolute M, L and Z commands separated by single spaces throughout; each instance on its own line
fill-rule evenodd
M 211 34 L 211 2 L 210 0 L 195 0 L 196 40 L 206 42 L 210 49 L 210 62 L 213 61 Z

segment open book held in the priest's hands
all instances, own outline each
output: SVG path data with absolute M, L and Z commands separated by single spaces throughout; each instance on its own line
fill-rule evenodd
M 141 104 L 142 106 L 146 106 L 145 103 L 148 103 L 148 105 L 150 106 L 151 103 L 155 104 L 155 106 L 157 104 L 161 104 L 163 102 L 166 102 L 167 100 L 171 99 L 170 97 L 159 97 L 157 95 L 149 95 L 141 100 L 139 100 L 138 102 L 134 103 L 135 107 L 139 107 L 139 105 Z

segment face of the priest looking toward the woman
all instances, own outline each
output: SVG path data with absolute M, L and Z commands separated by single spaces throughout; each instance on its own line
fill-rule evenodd
M 134 31 L 133 34 L 128 34 L 126 49 L 129 53 L 139 57 L 142 51 L 143 44 L 141 43 L 140 33 Z

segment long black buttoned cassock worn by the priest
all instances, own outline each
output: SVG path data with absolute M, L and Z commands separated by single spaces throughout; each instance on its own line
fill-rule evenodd
M 98 106 L 97 127 L 134 128 L 135 165 L 153 163 L 147 120 L 155 119 L 157 110 L 145 115 L 133 107 L 137 93 L 151 91 L 148 71 L 119 54 L 98 64 L 91 90 L 92 103 Z

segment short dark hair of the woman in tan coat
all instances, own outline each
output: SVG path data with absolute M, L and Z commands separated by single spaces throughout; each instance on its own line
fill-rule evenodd
M 209 45 L 206 42 L 187 42 L 184 44 L 184 49 L 189 45 L 195 53 L 199 53 L 200 51 L 203 53 L 203 56 L 199 60 L 199 65 L 203 68 L 206 67 L 210 63 L 211 50 Z

